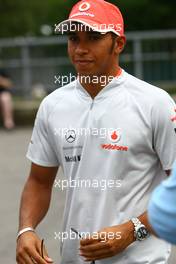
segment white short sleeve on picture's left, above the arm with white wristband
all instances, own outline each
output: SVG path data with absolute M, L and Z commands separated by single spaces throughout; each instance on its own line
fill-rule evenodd
M 47 103 L 44 100 L 36 116 L 26 156 L 37 165 L 57 167 L 59 166 L 59 161 L 51 142 L 51 135 L 49 135 L 47 110 Z

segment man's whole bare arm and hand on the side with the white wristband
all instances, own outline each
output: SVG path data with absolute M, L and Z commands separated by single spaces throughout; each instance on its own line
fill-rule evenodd
M 36 228 L 46 215 L 51 199 L 52 186 L 58 167 L 42 167 L 32 164 L 29 178 L 25 184 L 19 217 L 19 231 L 26 227 Z M 52 261 L 41 257 L 41 241 L 34 232 L 25 232 L 17 240 L 17 263 L 38 264 Z

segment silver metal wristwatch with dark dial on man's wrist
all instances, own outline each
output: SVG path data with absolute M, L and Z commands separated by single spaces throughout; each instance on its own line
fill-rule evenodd
M 131 222 L 134 225 L 134 237 L 138 241 L 143 241 L 149 236 L 149 232 L 145 225 L 143 225 L 138 218 L 132 218 Z

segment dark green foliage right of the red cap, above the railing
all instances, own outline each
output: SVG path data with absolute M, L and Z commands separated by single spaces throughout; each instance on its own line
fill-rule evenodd
M 111 1 L 121 9 L 126 31 L 176 28 L 176 1 L 119 0 Z

